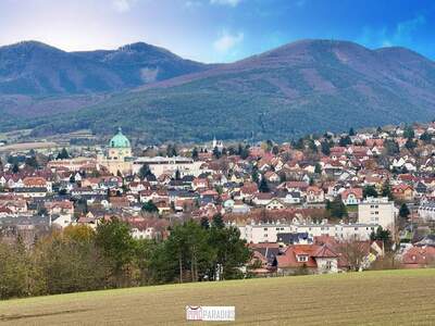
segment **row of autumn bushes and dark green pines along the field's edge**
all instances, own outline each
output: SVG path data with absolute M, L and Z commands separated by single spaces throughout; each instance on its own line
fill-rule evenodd
M 26 248 L 0 242 L 0 299 L 76 291 L 240 278 L 250 259 L 237 228 L 216 216 L 176 225 L 167 239 L 134 239 L 116 218 L 96 230 L 52 230 Z

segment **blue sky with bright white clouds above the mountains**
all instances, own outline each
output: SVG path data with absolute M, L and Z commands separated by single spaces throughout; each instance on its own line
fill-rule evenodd
M 0 46 L 66 51 L 145 41 L 233 62 L 304 38 L 400 46 L 435 60 L 433 0 L 0 0 Z

